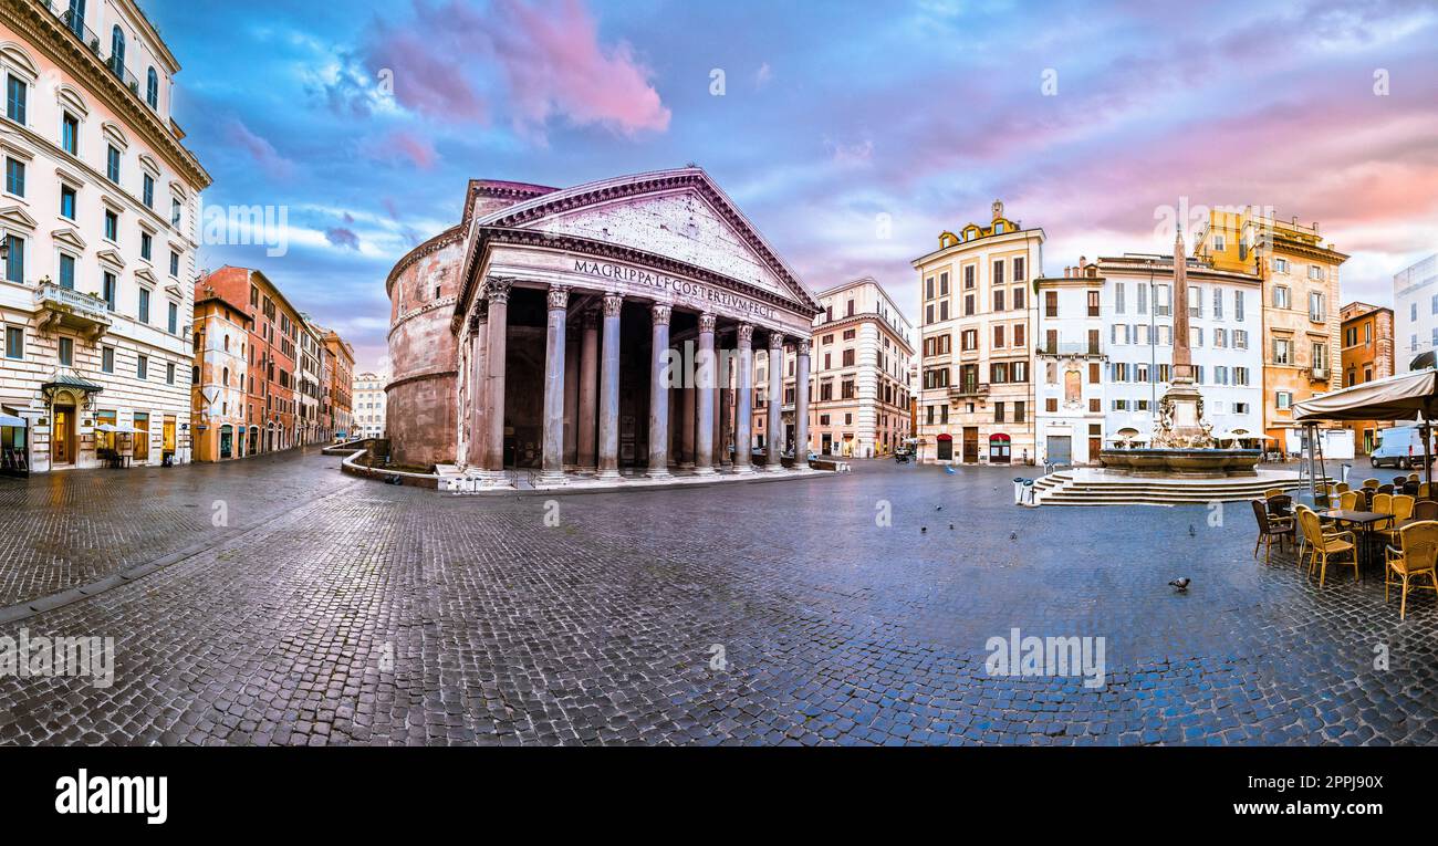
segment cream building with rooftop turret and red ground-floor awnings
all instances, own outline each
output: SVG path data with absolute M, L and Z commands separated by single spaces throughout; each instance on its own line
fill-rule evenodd
M 995 201 L 988 224 L 939 235 L 913 260 L 920 288 L 919 460 L 1032 463 L 1032 273 L 1043 229 Z

